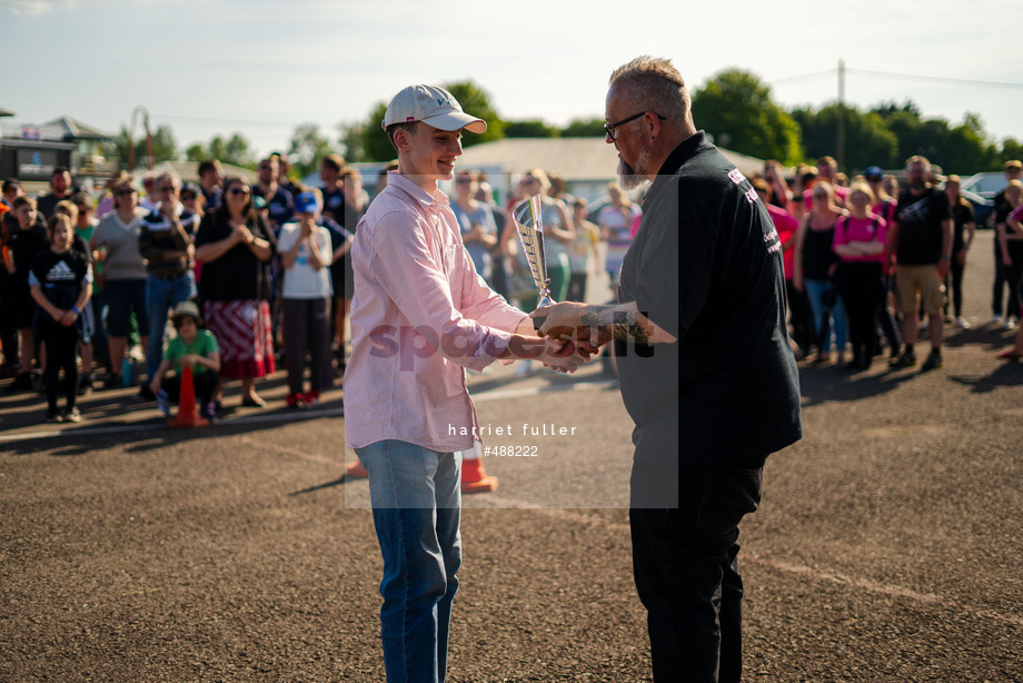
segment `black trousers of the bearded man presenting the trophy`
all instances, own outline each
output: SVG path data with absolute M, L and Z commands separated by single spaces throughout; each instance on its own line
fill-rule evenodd
M 635 462 L 629 528 L 633 572 L 647 611 L 656 683 L 738 682 L 743 580 L 738 524 L 757 508 L 763 458 L 748 466 L 682 468 Z M 643 507 L 677 482 L 675 507 Z M 655 496 L 656 497 L 656 496 Z

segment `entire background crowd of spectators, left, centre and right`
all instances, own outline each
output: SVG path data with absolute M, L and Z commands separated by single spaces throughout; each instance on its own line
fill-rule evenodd
M 387 170 L 393 167 L 377 178 L 376 191 L 386 186 Z M 1016 329 L 1023 306 L 1023 165 L 1009 161 L 1004 170 L 1007 187 L 993 214 L 991 323 Z M 266 400 L 255 383 L 282 364 L 289 377 L 286 404 L 301 408 L 316 405 L 344 376 L 354 295 L 348 251 L 370 200 L 359 171 L 328 155 L 319 187 L 307 188 L 289 177 L 284 155 L 271 155 L 259 162 L 254 184 L 225 177 L 216 160 L 199 164 L 198 177 L 198 184 L 182 186 L 170 172 L 137 179 L 121 171 L 93 196 L 58 168 L 49 191 L 38 198 L 27 196 L 18 180 L 3 184 L 0 348 L 3 370 L 14 377 L 9 392 L 30 390 L 33 377 L 41 377 L 47 418 L 54 420 L 79 419 L 73 396 L 97 385 L 137 385 L 139 400 L 162 405 L 160 377 L 173 369 L 167 353 L 179 323 L 205 327 L 198 338 L 215 340 L 216 368 L 196 373 L 206 383 L 202 409 L 210 417 L 222 410 L 225 380 L 240 382 L 242 405 L 261 407 Z M 922 328 L 931 339 L 923 367 L 932 369 L 942 364 L 945 324 L 970 327 L 962 281 L 976 229 L 972 205 L 959 177 L 942 176 L 922 157 L 908 160 L 905 178 L 908 187 L 901 189 L 894 176 L 870 167 L 851 180 L 833 158 L 823 157 L 815 168 L 798 168 L 791 181 L 781 165 L 768 161 L 754 180 L 783 244 L 798 359 L 821 365 L 834 358 L 862 372 L 887 347 L 893 366 L 910 367 L 916 359 L 906 340 L 915 340 Z M 602 271 L 614 288 L 642 217 L 639 205 L 615 182 L 602 201 L 589 205 L 542 169 L 516 180 L 498 205 L 486 175 L 456 174 L 450 204 L 479 276 L 524 310 L 535 307 L 537 287 L 510 216 L 518 201 L 538 194 L 553 298 L 585 300 L 590 276 Z M 59 256 L 72 250 L 85 258 L 80 277 L 80 264 Z M 54 268 L 54 255 L 62 276 L 67 269 L 76 278 L 60 295 L 46 281 L 56 271 L 33 276 L 39 264 Z M 72 295 L 86 290 L 78 305 Z M 186 301 L 195 303 L 197 314 L 172 315 Z M 67 353 L 71 330 L 75 368 Z M 143 369 L 131 363 L 136 344 Z M 51 347 L 53 362 L 47 363 Z M 1023 333 L 1001 355 L 1023 357 Z M 520 365 L 519 372 L 528 372 Z M 76 389 L 67 392 L 63 410 L 54 404 L 53 368 L 63 369 L 64 389 Z

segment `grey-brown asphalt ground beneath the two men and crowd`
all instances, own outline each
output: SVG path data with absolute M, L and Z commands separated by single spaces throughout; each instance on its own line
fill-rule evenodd
M 805 437 L 742 527 L 746 680 L 1023 681 L 1023 364 L 994 357 L 1013 333 L 987 324 L 991 238 L 945 367 L 801 364 Z M 465 498 L 448 680 L 648 681 L 613 382 L 469 382 L 483 425 L 576 434 L 486 437 L 536 456 L 487 456 L 497 491 Z M 195 430 L 129 389 L 86 397 L 75 426 L 0 397 L 0 680 L 384 680 L 341 392 L 297 413 L 281 374 L 259 390 L 268 409 Z

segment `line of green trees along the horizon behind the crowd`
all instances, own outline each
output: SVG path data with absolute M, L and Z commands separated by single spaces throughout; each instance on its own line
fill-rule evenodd
M 564 127 L 542 119 L 505 120 L 494 108 L 489 93 L 473 81 L 444 87 L 466 111 L 487 121 L 487 131 L 467 136 L 465 146 L 503 138 L 604 135 L 600 117 L 575 119 Z M 330 152 L 349 161 L 390 160 L 394 148 L 380 129 L 386 109 L 387 102 L 377 102 L 367 119 L 339 125 L 332 139 L 316 123 L 301 123 L 282 151 L 300 176 L 316 170 L 319 160 Z M 713 135 L 721 147 L 789 166 L 831 155 L 840 157 L 842 170 L 852 172 L 867 166 L 898 168 L 908 157 L 923 155 L 945 171 L 966 176 L 1000 169 L 1004 160 L 1023 157 L 1023 142 L 1014 138 L 992 139 L 976 113 L 967 113 L 962 122 L 953 125 L 943 118 L 925 117 L 912 100 L 880 102 L 870 109 L 828 102 L 820 108 L 786 110 L 774 101 L 768 85 L 742 69 L 721 71 L 695 90 L 693 115 L 697 127 Z M 840 145 L 840 135 L 844 145 Z M 122 162 L 127 162 L 131 143 L 128 129 L 121 127 L 116 145 Z M 143 158 L 145 139 L 135 143 L 136 158 Z M 192 161 L 215 158 L 252 169 L 258 162 L 251 143 L 240 132 L 213 136 L 182 152 L 170 127 L 161 125 L 152 133 L 152 149 L 155 162 L 179 159 L 182 154 Z

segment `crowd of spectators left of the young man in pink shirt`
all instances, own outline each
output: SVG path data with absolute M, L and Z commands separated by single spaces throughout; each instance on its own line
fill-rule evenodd
M 340 166 L 346 184 L 358 187 L 358 171 Z M 75 397 L 100 380 L 106 388 L 137 385 L 138 400 L 158 399 L 162 408 L 185 363 L 197 370 L 202 412 L 216 417 L 226 380 L 240 380 L 242 405 L 265 406 L 255 382 L 284 362 L 299 377 L 287 404 L 318 403 L 334 379 L 331 313 L 344 309 L 335 306 L 345 298 L 344 265 L 335 261 L 341 264 L 351 237 L 342 224 L 354 229 L 362 198 L 349 194 L 346 210 L 341 194 L 322 211 L 320 190 L 282 174 L 282 156 L 258 168 L 249 184 L 205 161 L 199 184 L 183 187 L 172 172 L 119 172 L 100 196 L 75 188 L 68 169 L 57 168 L 38 199 L 18 180 L 6 181 L 0 348 L 4 373 L 13 375 L 7 390 L 30 392 L 41 377 L 50 422 L 81 419 Z M 296 308 L 306 300 L 314 300 L 315 344 L 300 325 L 306 309 Z M 182 305 L 191 308 L 182 313 Z M 281 318 L 292 325 L 281 329 Z M 143 367 L 136 367 L 133 347 Z M 307 350 L 314 373 L 304 392 Z M 63 409 L 56 404 L 60 389 L 68 395 Z

